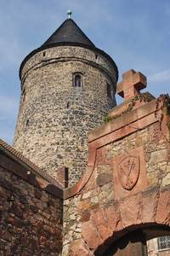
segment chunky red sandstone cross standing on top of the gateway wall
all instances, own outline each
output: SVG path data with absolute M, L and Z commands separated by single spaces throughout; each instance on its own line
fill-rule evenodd
M 140 90 L 146 88 L 146 77 L 133 69 L 122 74 L 122 82 L 117 84 L 116 92 L 122 96 L 124 100 L 136 96 Z

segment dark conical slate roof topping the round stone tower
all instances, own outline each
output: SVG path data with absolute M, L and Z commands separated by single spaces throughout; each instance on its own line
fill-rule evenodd
M 95 47 L 90 39 L 82 32 L 81 28 L 77 26 L 76 22 L 71 19 L 65 20 L 42 46 L 58 43 L 85 44 Z

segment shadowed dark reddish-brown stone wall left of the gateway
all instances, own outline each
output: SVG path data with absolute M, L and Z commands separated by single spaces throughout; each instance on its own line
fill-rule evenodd
M 60 255 L 62 200 L 42 189 L 43 180 L 26 181 L 26 169 L 1 156 L 0 255 Z

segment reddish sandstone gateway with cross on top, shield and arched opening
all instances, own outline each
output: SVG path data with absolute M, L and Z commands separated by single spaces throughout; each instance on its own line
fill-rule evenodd
M 145 86 L 124 73 L 124 102 L 88 135 L 87 171 L 65 190 L 63 255 L 142 256 L 148 239 L 170 234 L 169 98 Z

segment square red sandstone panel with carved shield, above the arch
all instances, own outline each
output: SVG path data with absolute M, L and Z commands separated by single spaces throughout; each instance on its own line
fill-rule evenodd
M 114 157 L 112 163 L 116 199 L 138 193 L 147 187 L 143 146 Z

